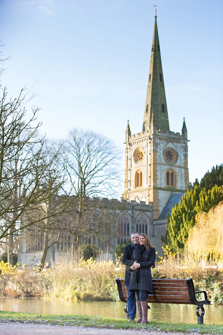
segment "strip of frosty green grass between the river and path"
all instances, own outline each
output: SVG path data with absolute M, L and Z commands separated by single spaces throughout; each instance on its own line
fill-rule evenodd
M 125 319 L 113 319 L 87 315 L 29 314 L 0 312 L 0 322 L 25 322 L 46 325 L 84 326 L 107 329 L 146 329 L 148 331 L 170 331 L 198 334 L 223 334 L 223 325 L 198 325 L 151 321 L 146 325 L 129 323 Z

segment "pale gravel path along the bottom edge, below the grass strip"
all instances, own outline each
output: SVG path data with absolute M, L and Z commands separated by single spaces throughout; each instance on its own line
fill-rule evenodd
M 89 327 L 74 326 L 51 326 L 51 325 L 34 325 L 25 323 L 0 323 L 1 335 L 164 335 L 165 332 L 151 332 L 146 330 L 120 330 L 120 329 L 97 329 Z M 176 335 L 176 333 L 167 333 Z M 183 333 L 177 333 L 182 335 Z

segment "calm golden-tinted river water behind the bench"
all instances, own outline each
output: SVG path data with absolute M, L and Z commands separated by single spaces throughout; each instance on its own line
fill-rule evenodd
M 0 298 L 0 310 L 36 314 L 99 315 L 125 318 L 121 302 L 73 302 L 46 299 Z M 150 304 L 149 321 L 197 323 L 196 306 Z M 223 306 L 204 306 L 206 324 L 223 324 Z

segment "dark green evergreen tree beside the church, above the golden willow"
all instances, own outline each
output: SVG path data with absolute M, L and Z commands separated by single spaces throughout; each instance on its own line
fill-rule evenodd
M 199 184 L 196 179 L 192 188 L 183 195 L 179 205 L 175 205 L 168 218 L 166 235 L 163 243 L 167 243 L 172 252 L 183 251 L 191 227 L 195 224 L 195 214 L 208 212 L 211 207 L 223 199 L 223 165 L 213 167 L 207 172 Z

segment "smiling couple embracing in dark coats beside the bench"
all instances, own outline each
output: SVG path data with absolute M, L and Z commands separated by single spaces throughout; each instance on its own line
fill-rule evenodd
M 125 265 L 125 285 L 127 286 L 127 305 L 129 322 L 136 317 L 136 323 L 147 323 L 148 294 L 153 294 L 151 267 L 155 264 L 155 248 L 151 245 L 146 234 L 134 231 L 131 235 L 132 243 L 123 251 L 122 262 Z M 136 302 L 135 302 L 136 296 Z

